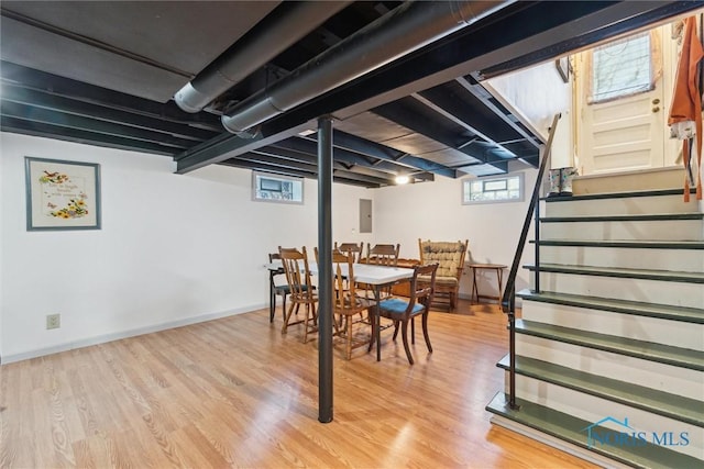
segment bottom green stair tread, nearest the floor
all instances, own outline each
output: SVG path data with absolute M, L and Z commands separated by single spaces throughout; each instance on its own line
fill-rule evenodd
M 498 392 L 492 402 L 486 405 L 486 411 L 505 418 L 529 426 L 556 438 L 569 442 L 582 448 L 618 460 L 632 467 L 701 467 L 702 460 L 682 453 L 673 451 L 650 442 L 642 445 L 601 445 L 594 444 L 591 448 L 587 442 L 587 428 L 592 431 L 608 432 L 607 428 L 596 426 L 594 423 L 574 417 L 563 412 L 535 404 L 520 399 L 516 400 L 520 410 L 513 410 L 507 404 L 506 395 Z M 606 417 L 606 415 L 604 415 Z

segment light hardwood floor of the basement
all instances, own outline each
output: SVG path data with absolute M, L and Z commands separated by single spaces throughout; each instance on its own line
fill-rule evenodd
M 318 422 L 317 342 L 268 311 L 0 367 L 0 468 L 588 468 L 490 423 L 507 350 L 496 305 L 431 312 L 406 360 L 336 348 Z

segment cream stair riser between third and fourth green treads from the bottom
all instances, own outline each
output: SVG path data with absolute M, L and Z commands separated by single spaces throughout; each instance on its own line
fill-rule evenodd
M 562 327 L 704 351 L 704 324 L 526 300 L 522 302 L 521 317 Z

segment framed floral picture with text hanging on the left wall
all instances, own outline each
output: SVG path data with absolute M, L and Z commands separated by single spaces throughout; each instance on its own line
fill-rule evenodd
M 100 230 L 100 165 L 24 158 L 26 230 Z

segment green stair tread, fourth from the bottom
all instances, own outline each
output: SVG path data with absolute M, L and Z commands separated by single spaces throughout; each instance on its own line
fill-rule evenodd
M 524 300 L 539 301 L 543 303 L 564 304 L 566 306 L 588 308 L 593 310 L 613 311 L 616 313 L 704 324 L 704 309 L 700 308 L 645 303 L 641 301 L 586 297 L 582 294 L 558 293 L 552 291 L 542 291 L 537 293 L 529 289 L 524 289 L 517 292 L 516 295 Z

